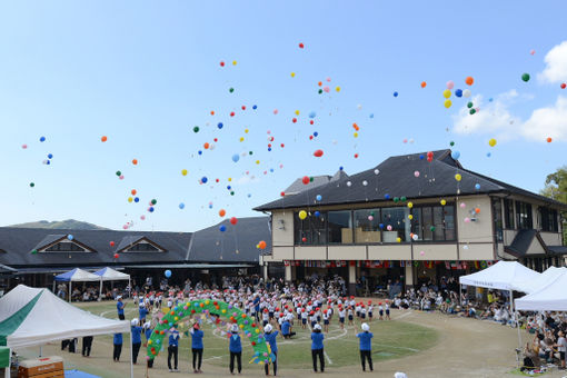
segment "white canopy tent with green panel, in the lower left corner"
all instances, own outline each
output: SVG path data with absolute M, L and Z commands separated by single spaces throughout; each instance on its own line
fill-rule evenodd
M 0 345 L 8 348 L 42 346 L 50 341 L 116 332 L 129 334 L 130 324 L 83 311 L 47 289 L 18 285 L 0 298 Z M 133 377 L 133 367 L 130 375 Z M 6 376 L 10 376 L 9 368 Z

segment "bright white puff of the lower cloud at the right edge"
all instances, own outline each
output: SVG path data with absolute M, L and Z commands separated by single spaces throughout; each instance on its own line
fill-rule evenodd
M 539 141 L 548 137 L 567 140 L 567 98 L 559 96 L 555 105 L 534 110 L 531 117 L 521 125 L 521 135 Z

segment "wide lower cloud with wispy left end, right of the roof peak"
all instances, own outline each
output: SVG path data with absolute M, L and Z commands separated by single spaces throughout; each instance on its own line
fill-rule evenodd
M 515 90 L 486 103 L 483 96 L 474 97 L 471 101 L 479 111 L 471 116 L 469 109 L 462 107 L 454 116 L 455 131 L 487 135 L 498 141 L 518 137 L 539 142 L 545 142 L 548 137 L 554 141 L 567 141 L 567 98 L 559 96 L 554 105 L 534 110 L 526 121 L 510 111 L 518 98 Z

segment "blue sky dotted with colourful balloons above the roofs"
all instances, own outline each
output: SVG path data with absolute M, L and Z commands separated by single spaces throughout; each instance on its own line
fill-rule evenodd
M 219 209 L 258 215 L 252 207 L 298 177 L 354 173 L 450 141 L 465 167 L 538 191 L 566 162 L 566 11 L 563 1 L 3 2 L 0 225 L 192 231 L 220 221 Z M 448 80 L 471 90 L 477 115 L 454 96 L 445 109 Z M 318 81 L 330 92 L 318 94 Z

